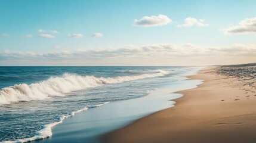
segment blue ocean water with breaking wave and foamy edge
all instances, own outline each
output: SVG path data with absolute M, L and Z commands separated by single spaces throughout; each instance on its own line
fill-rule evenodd
M 146 97 L 166 86 L 175 91 L 178 81 L 186 82 L 184 76 L 201 68 L 0 67 L 0 142 L 47 138 L 76 113 Z

